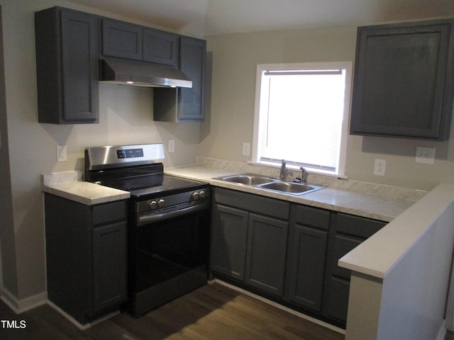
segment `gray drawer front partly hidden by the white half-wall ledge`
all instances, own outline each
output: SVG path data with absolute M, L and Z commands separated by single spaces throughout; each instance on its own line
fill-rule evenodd
M 378 232 L 387 223 L 370 220 L 364 217 L 338 213 L 336 215 L 336 232 L 367 239 Z

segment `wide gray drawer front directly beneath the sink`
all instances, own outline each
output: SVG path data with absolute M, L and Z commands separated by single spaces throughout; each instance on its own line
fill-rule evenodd
M 249 212 L 289 220 L 290 203 L 250 193 L 241 193 L 224 188 L 214 188 L 216 203 L 240 208 Z

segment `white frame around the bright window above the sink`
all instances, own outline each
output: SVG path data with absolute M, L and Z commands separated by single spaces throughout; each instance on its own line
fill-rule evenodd
M 320 69 L 345 69 L 345 96 L 343 106 L 343 120 L 341 128 L 341 145 L 339 149 L 338 168 L 336 172 L 320 171 L 317 169 L 308 169 L 314 174 L 323 174 L 328 176 L 336 176 L 338 178 L 345 177 L 345 157 L 347 152 L 347 137 L 348 137 L 348 121 L 350 117 L 350 102 L 351 102 L 351 87 L 353 77 L 353 62 L 310 62 L 310 63 L 291 63 L 291 64 L 258 64 L 257 76 L 255 81 L 255 113 L 254 113 L 254 135 L 253 135 L 253 152 L 252 164 L 265 165 L 265 162 L 259 162 L 258 143 L 259 139 L 259 120 L 260 120 L 260 98 L 262 74 L 272 70 L 320 70 Z M 269 165 L 269 164 L 268 164 Z M 277 166 L 277 165 L 276 165 Z M 290 169 L 299 169 L 297 166 L 289 165 Z

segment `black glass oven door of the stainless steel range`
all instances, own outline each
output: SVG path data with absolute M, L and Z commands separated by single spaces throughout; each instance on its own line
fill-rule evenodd
M 206 284 L 209 200 L 193 207 L 156 212 L 158 218 L 143 215 L 147 218 L 138 218 L 130 228 L 129 286 L 135 316 Z

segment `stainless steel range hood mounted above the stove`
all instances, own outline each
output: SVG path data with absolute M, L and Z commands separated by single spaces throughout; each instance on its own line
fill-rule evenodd
M 100 60 L 99 83 L 143 87 L 192 87 L 192 80 L 179 69 L 116 58 Z

